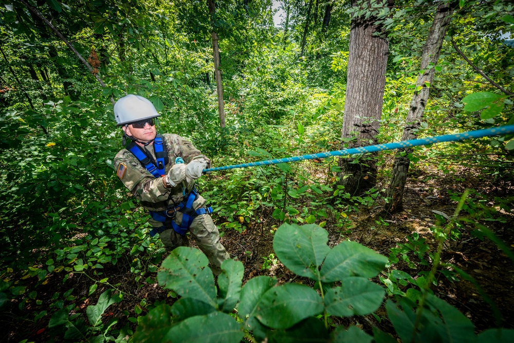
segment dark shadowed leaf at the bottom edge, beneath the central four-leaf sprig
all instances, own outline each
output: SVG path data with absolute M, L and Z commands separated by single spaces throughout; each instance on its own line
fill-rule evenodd
M 321 319 L 308 317 L 287 330 L 273 330 L 268 333 L 269 342 L 321 343 L 328 342 L 328 331 Z

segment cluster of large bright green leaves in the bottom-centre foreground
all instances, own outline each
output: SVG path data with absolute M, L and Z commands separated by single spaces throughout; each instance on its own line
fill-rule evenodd
M 291 241 L 291 237 L 295 239 Z M 292 339 L 300 333 L 307 334 L 308 324 L 319 314 L 324 313 L 325 317 L 352 316 L 375 311 L 382 302 L 384 291 L 367 278 L 376 276 L 387 259 L 354 242 L 342 242 L 332 250 L 326 243 L 326 231 L 313 224 L 283 224 L 273 239 L 281 262 L 298 275 L 309 276 L 319 283 L 325 290 L 321 297 L 306 285 L 276 285 L 269 277 L 251 279 L 241 289 L 242 264 L 233 260 L 222 264 L 223 273 L 218 277 L 219 292 L 216 296 L 207 258 L 198 250 L 178 247 L 163 261 L 163 270 L 158 274 L 163 287 L 182 296 L 171 308 L 172 320 L 167 323 L 169 331 L 162 339 L 174 340 L 188 334 L 197 337 L 196 333 L 190 332 L 198 330 L 190 326 L 193 318 L 194 322 L 204 324 L 202 335 L 206 339 L 217 337 L 220 327 L 234 332 L 234 339 L 241 339 L 243 328 L 253 331 L 256 337 L 261 334 L 287 337 L 291 332 L 289 339 Z M 342 281 L 342 285 L 331 287 L 334 281 Z M 184 306 L 184 302 L 192 300 L 205 304 L 205 307 Z M 231 312 L 237 302 L 242 323 L 233 318 L 228 320 L 230 317 L 223 315 L 223 312 Z M 153 311 L 156 312 L 149 313 L 148 318 L 142 320 L 144 325 L 138 328 L 135 338 L 144 339 L 150 334 L 146 328 L 151 330 L 156 325 L 148 319 L 161 322 L 157 311 L 162 310 L 155 309 Z M 164 312 L 169 313 L 169 310 Z M 319 330 L 323 331 L 321 327 Z M 178 336 L 179 332 L 183 336 Z

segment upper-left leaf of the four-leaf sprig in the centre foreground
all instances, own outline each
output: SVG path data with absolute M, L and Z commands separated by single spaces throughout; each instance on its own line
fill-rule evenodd
M 315 224 L 282 224 L 273 238 L 278 259 L 293 273 L 317 279 L 318 268 L 330 248 L 328 233 Z

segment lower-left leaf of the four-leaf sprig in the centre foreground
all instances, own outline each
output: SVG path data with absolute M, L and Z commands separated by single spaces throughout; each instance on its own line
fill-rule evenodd
M 298 283 L 286 283 L 268 290 L 255 317 L 273 329 L 288 329 L 301 320 L 323 311 L 318 292 Z

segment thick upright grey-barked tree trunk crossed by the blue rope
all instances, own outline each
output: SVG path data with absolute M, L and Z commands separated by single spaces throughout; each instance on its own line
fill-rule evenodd
M 356 0 L 352 1 L 356 5 Z M 383 92 L 386 85 L 386 66 L 389 41 L 373 16 L 353 16 L 350 28 L 346 98 L 341 132 L 348 147 L 376 143 L 382 116 Z M 362 159 L 362 158 L 361 158 Z M 366 157 L 365 163 L 353 158 L 339 158 L 339 185 L 351 195 L 375 185 L 376 154 Z

